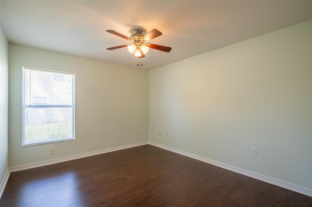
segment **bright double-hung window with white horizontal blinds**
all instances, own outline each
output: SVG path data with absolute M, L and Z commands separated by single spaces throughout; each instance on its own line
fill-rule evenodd
M 23 68 L 22 146 L 75 139 L 75 75 Z

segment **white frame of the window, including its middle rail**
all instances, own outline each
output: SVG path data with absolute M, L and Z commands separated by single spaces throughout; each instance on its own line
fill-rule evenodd
M 49 72 L 52 74 L 69 74 L 72 75 L 72 104 L 71 105 L 53 105 L 53 104 L 26 104 L 25 103 L 25 70 L 37 70 Z M 72 137 L 71 138 L 63 138 L 59 140 L 49 140 L 49 141 L 33 141 L 32 143 L 25 143 L 25 108 L 72 108 Z M 22 147 L 34 146 L 40 144 L 48 144 L 55 142 L 63 142 L 63 141 L 73 141 L 75 140 L 75 73 L 71 72 L 63 72 L 49 69 L 37 69 L 37 68 L 29 68 L 22 67 Z

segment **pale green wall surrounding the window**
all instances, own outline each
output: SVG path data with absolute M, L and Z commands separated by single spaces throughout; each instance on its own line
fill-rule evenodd
M 21 147 L 22 67 L 75 73 L 76 140 Z M 147 141 L 148 71 L 9 44 L 9 106 L 10 167 Z

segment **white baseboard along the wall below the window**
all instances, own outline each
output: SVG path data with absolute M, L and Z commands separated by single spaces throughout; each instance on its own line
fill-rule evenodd
M 16 166 L 16 167 L 11 167 L 10 172 L 16 172 L 16 171 L 22 171 L 22 170 L 27 170 L 27 169 L 31 169 L 31 168 L 37 168 L 37 167 L 41 167 L 41 166 L 45 166 L 45 165 L 52 165 L 52 164 L 56 164 L 56 163 L 60 163 L 60 162 L 66 162 L 66 161 L 79 159 L 79 158 L 83 158 L 83 157 L 87 157 L 87 156 L 110 153 L 110 152 L 114 152 L 114 151 L 118 151 L 118 150 L 124 150 L 124 149 L 137 147 L 137 146 L 141 146 L 141 145 L 145 145 L 145 144 L 148 144 L 148 142 L 144 141 L 144 142 L 139 142 L 136 144 L 128 144 L 128 145 L 124 145 L 124 146 L 120 146 L 120 147 L 113 147 L 113 148 L 98 150 L 98 151 L 94 151 L 94 152 L 90 152 L 90 153 L 83 153 L 83 154 L 79 154 L 79 155 L 66 156 L 66 157 L 57 158 L 57 159 L 50 159 L 50 160 L 46 160 L 46 161 L 41 161 L 41 162 L 36 162 L 36 163 L 31 163 L 31 164 L 26 164 L 26 165 L 20 165 L 20 166 Z

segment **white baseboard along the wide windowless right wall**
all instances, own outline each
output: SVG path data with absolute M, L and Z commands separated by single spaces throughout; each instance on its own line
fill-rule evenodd
M 187 152 L 184 152 L 184 151 L 181 151 L 181 150 L 177 150 L 175 148 L 171 148 L 171 147 L 167 147 L 167 146 L 164 146 L 164 145 L 161 145 L 161 144 L 157 144 L 157 143 L 152 142 L 152 141 L 148 141 L 148 144 L 153 145 L 155 147 L 162 148 L 164 150 L 168 150 L 168 151 L 180 154 L 180 155 L 188 156 L 188 157 L 191 157 L 191 158 L 194 158 L 194 159 L 197 159 L 197 160 L 200 160 L 200 161 L 203 161 L 203 162 L 215 165 L 217 167 L 233 171 L 235 173 L 243 174 L 243 175 L 246 175 L 246 176 L 249 176 L 249 177 L 252 177 L 252 178 L 255 178 L 255 179 L 258 179 L 258 180 L 270 183 L 270 184 L 273 184 L 275 186 L 279 186 L 279 187 L 282 187 L 282 188 L 285 188 L 285 189 L 288 189 L 288 190 L 292 190 L 292 191 L 295 191 L 295 192 L 299 192 L 301 194 L 308 195 L 308 196 L 312 197 L 312 189 L 309 189 L 309 188 L 306 188 L 306 187 L 295 185 L 295 184 L 292 184 L 292 183 L 289 183 L 289 182 L 286 182 L 286 181 L 283 181 L 283 180 L 279 180 L 279 179 L 276 179 L 276 178 L 273 178 L 273 177 L 269 177 L 269 176 L 266 176 L 266 175 L 263 175 L 263 174 L 254 173 L 252 171 L 248 171 L 248 170 L 244 170 L 244 169 L 241 169 L 241 168 L 237 168 L 235 166 L 228 165 L 228 164 L 225 164 L 225 163 L 222 163 L 222 162 L 218 162 L 218 161 L 215 161 L 215 160 L 212 160 L 212 159 L 208 159 L 206 157 L 194 155 L 194 154 L 187 153 Z

